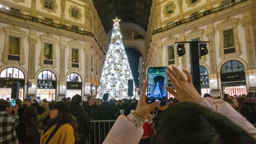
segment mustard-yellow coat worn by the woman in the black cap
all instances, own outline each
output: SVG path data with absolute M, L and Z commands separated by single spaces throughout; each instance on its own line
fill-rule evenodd
M 53 125 L 47 132 L 44 133 L 44 130 L 41 133 L 40 144 L 45 144 L 48 137 L 53 132 L 56 124 Z M 63 124 L 59 127 L 56 133 L 53 135 L 48 144 L 73 144 L 75 143 L 75 132 L 73 127 L 70 124 Z

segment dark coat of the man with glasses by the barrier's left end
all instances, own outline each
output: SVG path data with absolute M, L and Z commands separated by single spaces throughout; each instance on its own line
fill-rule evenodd
M 85 105 L 84 111 L 87 112 L 90 120 L 104 120 L 104 114 L 100 106 L 97 105 Z

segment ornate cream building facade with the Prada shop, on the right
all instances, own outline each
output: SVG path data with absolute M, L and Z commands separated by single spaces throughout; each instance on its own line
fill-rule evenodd
M 200 58 L 201 91 L 232 96 L 256 89 L 255 0 L 153 0 L 145 49 L 147 66 L 177 66 L 190 71 L 189 44 L 210 41 Z

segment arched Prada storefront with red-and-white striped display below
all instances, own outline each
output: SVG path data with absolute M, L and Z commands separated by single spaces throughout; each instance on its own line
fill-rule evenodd
M 221 85 L 223 94 L 230 96 L 247 95 L 245 67 L 239 61 L 228 61 L 221 69 Z

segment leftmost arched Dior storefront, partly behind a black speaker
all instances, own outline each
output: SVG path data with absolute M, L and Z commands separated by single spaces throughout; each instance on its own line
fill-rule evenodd
M 25 79 L 24 73 L 15 67 L 9 67 L 1 71 L 0 74 L 0 98 L 11 98 L 11 84 L 20 83 L 19 98 L 24 99 Z

